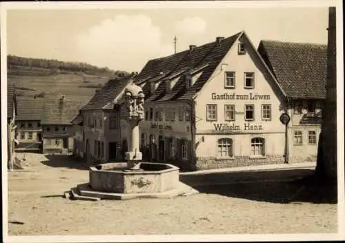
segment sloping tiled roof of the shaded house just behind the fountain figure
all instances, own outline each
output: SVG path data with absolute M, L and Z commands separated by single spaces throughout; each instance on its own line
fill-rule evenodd
M 128 77 L 110 79 L 81 110 L 97 110 L 111 103 L 132 81 L 132 77 L 134 76 L 132 74 Z

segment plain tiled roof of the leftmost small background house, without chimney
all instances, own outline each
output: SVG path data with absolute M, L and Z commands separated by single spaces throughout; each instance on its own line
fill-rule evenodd
M 34 97 L 17 97 L 17 121 L 39 121 L 43 112 L 45 99 Z

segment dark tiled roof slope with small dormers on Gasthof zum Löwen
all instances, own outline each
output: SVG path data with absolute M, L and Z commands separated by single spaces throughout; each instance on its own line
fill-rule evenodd
M 194 95 L 201 90 L 214 72 L 219 62 L 224 58 L 228 50 L 233 46 L 235 40 L 242 34 L 237 33 L 231 37 L 222 39 L 220 42 L 206 43 L 203 46 L 193 48 L 193 50 L 184 50 L 175 55 L 153 59 L 148 61 L 146 66 L 141 70 L 139 75 L 135 77 L 136 83 L 141 83 L 147 77 L 161 81 L 155 93 L 150 94 L 150 81 L 146 79 L 143 91 L 147 101 L 169 101 L 174 99 L 193 99 Z M 195 84 L 186 89 L 184 73 L 196 68 L 204 68 L 201 76 Z M 157 79 L 159 74 L 160 79 Z M 174 77 L 175 76 L 175 77 Z M 175 86 L 166 92 L 166 79 L 178 78 Z

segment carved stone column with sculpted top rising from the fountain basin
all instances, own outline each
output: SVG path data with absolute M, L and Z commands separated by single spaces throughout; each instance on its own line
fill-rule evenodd
M 137 170 L 135 164 L 141 161 L 142 153 L 139 150 L 139 123 L 144 119 L 144 94 L 141 88 L 132 84 L 126 88 L 126 120 L 128 122 L 128 151 L 126 161 L 128 168 Z

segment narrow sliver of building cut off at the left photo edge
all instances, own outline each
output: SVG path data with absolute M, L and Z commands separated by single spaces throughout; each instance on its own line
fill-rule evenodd
M 7 128 L 8 128 L 8 168 L 12 168 L 15 157 L 14 147 L 17 142 L 15 139 L 15 121 L 17 118 L 17 95 L 14 84 L 7 84 Z

